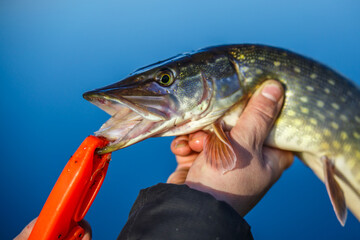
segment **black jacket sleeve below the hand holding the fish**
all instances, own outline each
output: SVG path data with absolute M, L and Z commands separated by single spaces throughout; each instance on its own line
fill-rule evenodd
M 118 240 L 253 239 L 250 226 L 227 203 L 186 185 L 140 191 Z

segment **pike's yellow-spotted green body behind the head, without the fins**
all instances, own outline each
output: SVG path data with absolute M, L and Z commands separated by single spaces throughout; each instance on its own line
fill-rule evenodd
M 323 181 L 321 159 L 331 159 L 345 199 L 360 218 L 357 86 L 327 66 L 287 50 L 256 45 L 225 49 L 236 59 L 249 94 L 265 79 L 277 79 L 285 87 L 285 103 L 268 144 L 297 152 Z

